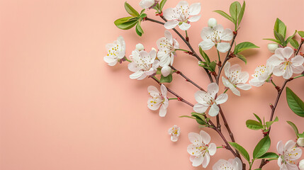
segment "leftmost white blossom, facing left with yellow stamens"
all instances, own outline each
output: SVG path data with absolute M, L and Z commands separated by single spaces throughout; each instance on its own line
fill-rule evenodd
M 108 63 L 109 66 L 116 65 L 117 62 L 121 62 L 125 57 L 125 40 L 122 36 L 119 36 L 116 41 L 106 45 L 108 54 L 103 57 L 103 60 Z

